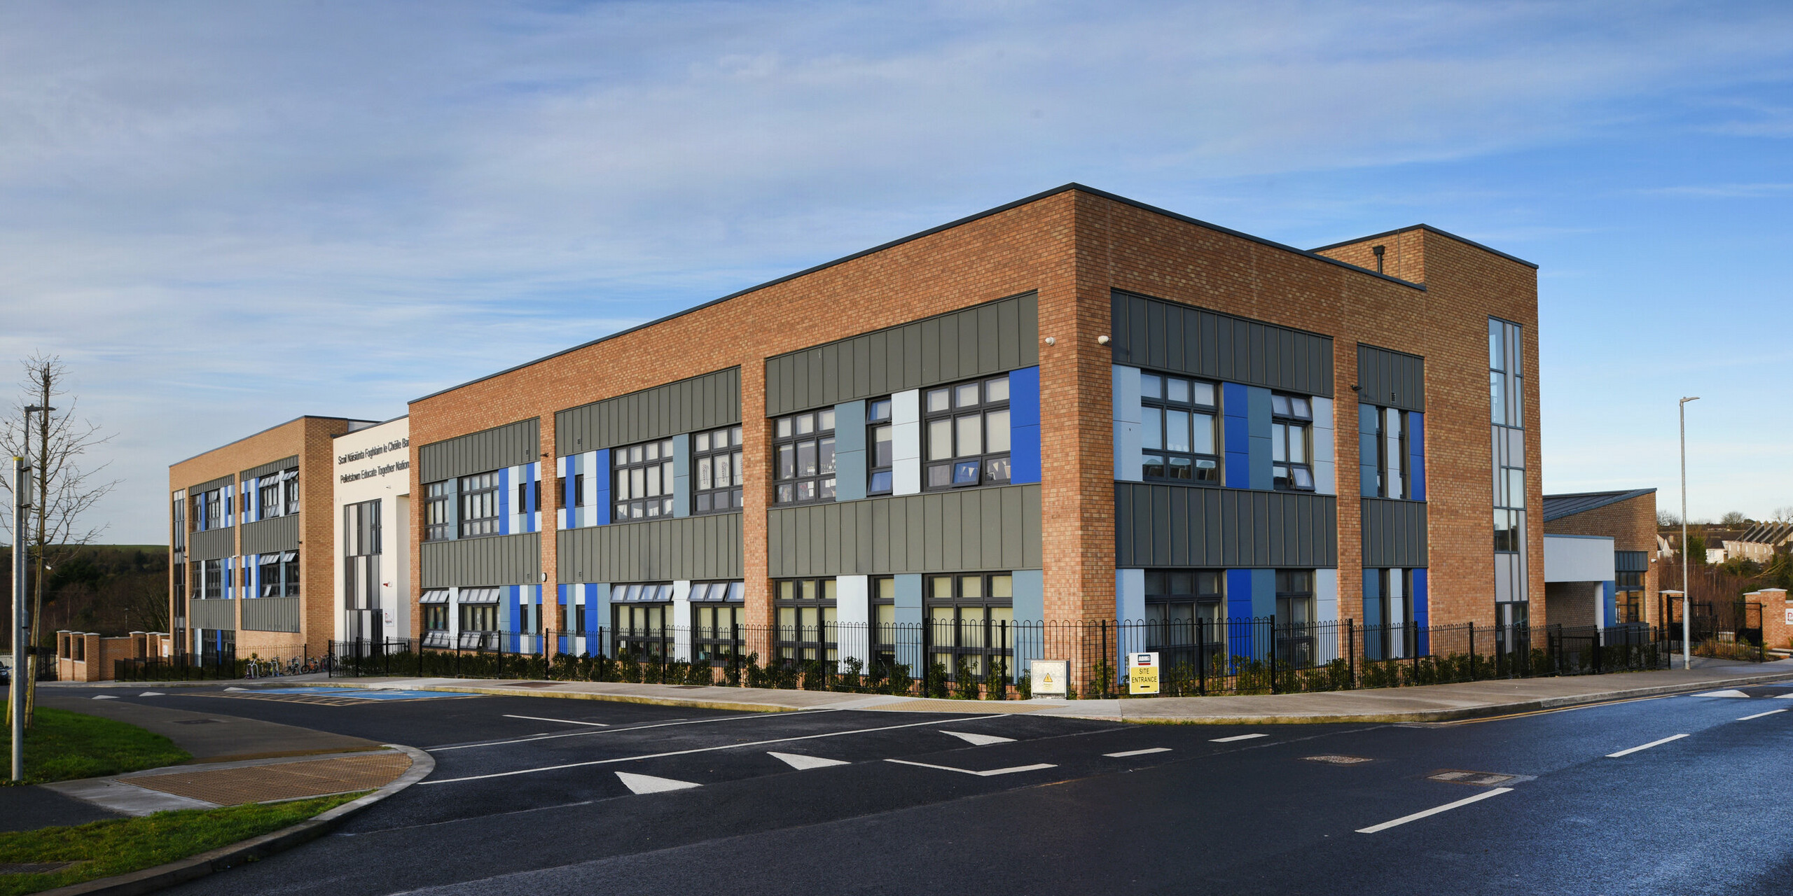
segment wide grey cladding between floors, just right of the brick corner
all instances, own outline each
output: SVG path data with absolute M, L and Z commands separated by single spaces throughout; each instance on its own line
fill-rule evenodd
M 1338 498 L 1115 482 L 1115 566 L 1338 566 Z

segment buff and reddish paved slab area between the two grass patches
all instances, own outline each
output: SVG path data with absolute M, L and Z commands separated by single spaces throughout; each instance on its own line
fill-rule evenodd
M 221 806 L 371 790 L 393 783 L 411 767 L 411 756 L 393 751 L 333 760 L 282 762 L 240 769 L 169 772 L 124 778 L 122 783 L 163 794 L 204 799 Z

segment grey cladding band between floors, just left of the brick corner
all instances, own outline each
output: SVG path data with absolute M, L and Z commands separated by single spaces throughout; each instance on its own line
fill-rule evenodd
M 1040 486 L 810 504 L 767 516 L 773 577 L 1042 566 Z

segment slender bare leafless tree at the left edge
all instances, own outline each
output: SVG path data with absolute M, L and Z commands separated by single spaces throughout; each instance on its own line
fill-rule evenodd
M 45 645 L 43 631 L 43 579 L 45 570 L 72 557 L 82 545 L 91 545 L 106 530 L 106 525 L 88 525 L 86 513 L 118 480 L 106 480 L 100 475 L 109 464 L 84 466 L 88 452 L 111 441 L 100 435 L 99 426 L 75 418 L 77 398 L 68 392 L 68 366 L 57 355 L 32 353 L 22 362 L 23 401 L 14 405 L 16 414 L 0 423 L 0 450 L 23 457 L 30 464 L 38 493 L 30 514 L 25 518 L 23 532 L 11 532 L 11 518 L 0 527 L 13 534 L 13 543 L 23 543 L 30 554 L 23 559 L 27 572 L 34 573 L 30 582 L 30 643 Z M 56 407 L 56 410 L 36 412 L 27 426 L 25 407 Z M 0 477 L 7 478 L 7 477 Z M 11 493 L 11 480 L 0 491 Z M 16 636 L 16 633 L 14 633 Z M 20 670 L 14 670 L 18 674 Z M 38 665 L 27 663 L 25 670 L 25 722 L 30 724 L 38 697 Z M 11 702 L 7 713 L 13 711 Z M 9 717 L 11 719 L 11 717 Z

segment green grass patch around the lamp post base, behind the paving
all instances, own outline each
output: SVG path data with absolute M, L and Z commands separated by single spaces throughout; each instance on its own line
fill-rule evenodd
M 0 737 L 0 744 L 5 744 L 0 747 L 4 751 L 13 749 L 11 731 Z M 23 783 L 100 778 L 160 769 L 190 758 L 194 756 L 172 740 L 138 726 L 39 706 L 38 722 L 25 731 Z

